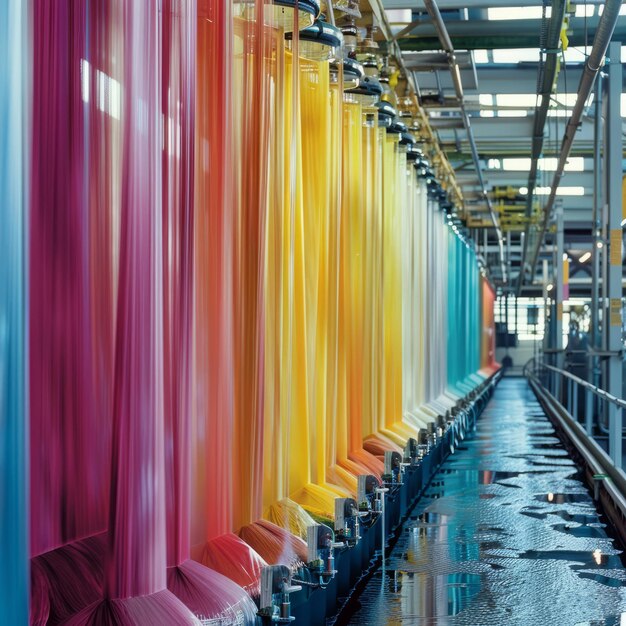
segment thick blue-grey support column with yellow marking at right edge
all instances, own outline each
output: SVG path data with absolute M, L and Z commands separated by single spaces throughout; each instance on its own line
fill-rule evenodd
M 621 45 L 611 42 L 607 54 L 609 76 L 605 98 L 604 175 L 607 212 L 608 319 L 603 323 L 605 348 L 610 353 L 604 388 L 622 397 L 622 93 Z M 609 455 L 622 467 L 622 412 L 609 408 Z

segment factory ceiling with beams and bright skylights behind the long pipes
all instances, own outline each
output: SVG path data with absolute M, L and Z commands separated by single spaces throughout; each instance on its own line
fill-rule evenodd
M 494 281 L 504 289 L 513 289 L 514 278 L 520 273 L 524 220 L 520 220 L 521 214 L 512 212 L 511 207 L 516 203 L 521 207 L 525 203 L 533 125 L 539 102 L 540 69 L 546 67 L 546 52 L 549 50 L 545 49 L 545 42 L 549 36 L 553 4 L 558 11 L 558 2 L 436 2 L 454 46 L 464 92 L 464 108 L 471 120 L 483 182 L 502 227 L 499 236 L 482 197 L 470 138 L 450 71 L 449 54 L 444 50 L 440 33 L 427 11 L 429 2 L 370 0 L 374 23 L 380 29 L 376 38 L 386 39 L 388 48 L 393 46 L 396 54 L 401 54 L 403 71 L 410 73 L 419 101 L 456 170 L 457 181 L 473 215 L 468 229 L 480 244 L 479 249 Z M 574 1 L 561 9 L 564 10 L 564 19 L 559 28 L 558 52 L 554 55 L 558 59 L 556 76 L 550 94 L 533 195 L 537 212 L 542 209 L 550 191 L 565 125 L 576 102 L 581 73 L 603 8 L 604 3 L 600 2 Z M 620 10 L 612 40 L 626 44 L 626 7 Z M 624 96 L 622 109 L 626 114 Z M 557 192 L 556 204 L 564 212 L 566 248 L 569 242 L 573 251 L 584 251 L 591 246 L 594 116 L 592 94 L 586 102 Z M 498 262 L 502 243 L 506 263 L 504 270 Z M 540 258 L 543 256 L 552 258 L 549 247 L 542 250 Z M 533 278 L 537 282 L 540 276 L 536 274 Z M 531 292 L 532 281 L 527 283 L 525 290 Z

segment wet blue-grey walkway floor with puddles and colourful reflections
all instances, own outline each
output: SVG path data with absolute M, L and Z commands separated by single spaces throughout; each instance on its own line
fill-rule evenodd
M 505 378 L 350 623 L 626 626 L 626 569 L 525 381 Z

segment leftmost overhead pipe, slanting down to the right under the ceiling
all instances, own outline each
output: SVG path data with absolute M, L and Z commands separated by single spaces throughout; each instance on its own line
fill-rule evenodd
M 504 262 L 504 244 L 502 237 L 502 229 L 498 224 L 498 218 L 496 217 L 495 211 L 493 210 L 493 205 L 491 203 L 491 198 L 487 194 L 487 189 L 485 187 L 485 181 L 483 179 L 483 173 L 480 167 L 480 158 L 478 156 L 478 149 L 476 148 L 476 140 L 474 139 L 474 132 L 472 131 L 472 126 L 470 123 L 469 115 L 467 113 L 467 109 L 465 108 L 465 96 L 463 94 L 463 83 L 461 82 L 461 70 L 459 68 L 459 64 L 456 60 L 456 55 L 454 52 L 454 46 L 452 45 L 452 40 L 450 39 L 450 35 L 448 34 L 448 29 L 441 17 L 441 13 L 439 12 L 439 7 L 437 6 L 434 0 L 424 0 L 424 6 L 428 11 L 428 15 L 430 15 L 430 19 L 433 22 L 435 30 L 437 31 L 437 36 L 439 37 L 439 41 L 441 42 L 441 46 L 443 50 L 448 55 L 448 64 L 450 66 L 450 74 L 452 76 L 452 82 L 454 84 L 454 91 L 456 92 L 457 100 L 459 101 L 459 106 L 461 108 L 461 117 L 463 119 L 463 126 L 465 127 L 465 132 L 467 133 L 467 139 L 470 145 L 470 151 L 472 153 L 472 161 L 474 162 L 474 168 L 476 169 L 476 176 L 478 178 L 478 183 L 480 185 L 483 199 L 487 204 L 487 209 L 489 211 L 489 216 L 491 217 L 491 221 L 493 222 L 493 227 L 496 231 L 496 236 L 498 238 L 498 249 L 500 252 L 500 268 L 502 270 L 502 282 L 506 283 L 507 281 L 507 273 L 506 273 L 506 264 Z

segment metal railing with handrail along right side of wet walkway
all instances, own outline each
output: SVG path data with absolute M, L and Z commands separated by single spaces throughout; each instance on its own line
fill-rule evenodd
M 533 376 L 561 403 L 566 411 L 582 426 L 589 437 L 609 434 L 611 412 L 626 409 L 626 401 L 582 378 L 532 358 L 524 366 L 524 375 Z M 626 430 L 622 431 L 622 435 Z M 616 459 L 614 459 L 616 461 Z M 621 459 L 616 463 L 621 466 Z

